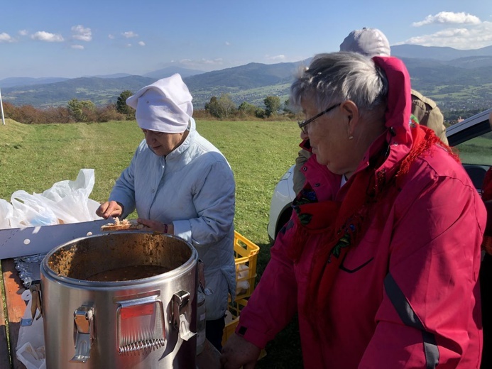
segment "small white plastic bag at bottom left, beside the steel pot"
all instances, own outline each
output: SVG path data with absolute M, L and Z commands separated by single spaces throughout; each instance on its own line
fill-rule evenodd
M 18 332 L 16 356 L 21 363 L 26 365 L 27 369 L 46 369 L 43 317 L 35 319 L 37 315 L 32 316 L 32 297 L 30 290 L 22 293 L 22 298 L 28 302 L 23 319 L 33 319 L 33 324 L 31 326 L 21 325 Z M 37 310 L 36 313 L 39 314 Z

